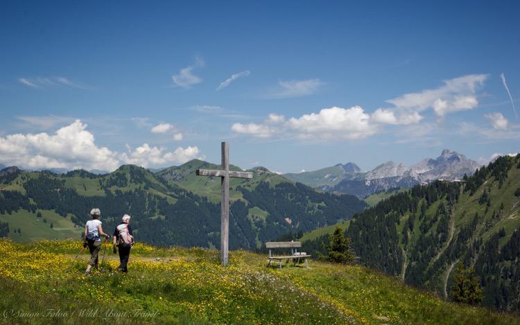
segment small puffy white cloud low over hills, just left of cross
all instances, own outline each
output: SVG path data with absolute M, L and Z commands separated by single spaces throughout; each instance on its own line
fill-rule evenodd
M 199 150 L 195 147 L 182 148 L 178 147 L 173 152 L 159 147 L 150 147 L 148 143 L 144 143 L 143 146 L 132 150 L 130 146 L 127 146 L 128 154 L 123 153 L 121 160 L 126 164 L 135 164 L 138 166 L 148 167 L 157 166 L 162 164 L 184 164 L 186 161 L 199 157 Z

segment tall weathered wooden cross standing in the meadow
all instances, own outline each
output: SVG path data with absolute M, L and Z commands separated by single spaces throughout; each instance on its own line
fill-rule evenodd
M 220 263 L 227 265 L 229 243 L 229 177 L 253 178 L 253 173 L 229 171 L 229 143 L 222 143 L 222 170 L 198 169 L 198 176 L 222 177 L 222 202 L 220 203 Z

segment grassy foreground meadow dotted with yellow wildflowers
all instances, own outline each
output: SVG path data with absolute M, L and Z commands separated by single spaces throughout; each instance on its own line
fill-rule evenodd
M 361 266 L 311 261 L 266 267 L 266 256 L 137 244 L 129 273 L 83 276 L 79 241 L 0 241 L 0 299 L 8 324 L 520 324 L 520 317 L 441 301 Z M 53 310 L 53 313 L 49 313 Z M 59 311 L 58 311 L 59 310 Z M 29 318 L 28 315 L 31 314 Z

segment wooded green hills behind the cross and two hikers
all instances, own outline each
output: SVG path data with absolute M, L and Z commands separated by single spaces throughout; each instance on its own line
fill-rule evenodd
M 219 247 L 220 178 L 196 176 L 198 168 L 219 166 L 193 160 L 154 174 L 125 165 L 107 175 L 0 170 L 0 237 L 77 238 L 80 229 L 74 225 L 83 227 L 90 209 L 99 207 L 105 229 L 128 213 L 146 243 Z M 321 193 L 265 168 L 252 172 L 253 179 L 231 182 L 229 246 L 234 249 L 257 249 L 289 232 L 332 225 L 365 207 L 356 197 Z M 49 223 L 35 218 L 37 211 L 49 213 Z

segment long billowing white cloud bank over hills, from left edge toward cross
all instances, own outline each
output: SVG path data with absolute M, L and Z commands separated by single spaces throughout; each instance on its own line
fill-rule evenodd
M 150 166 L 184 163 L 198 157 L 196 146 L 179 147 L 173 152 L 150 147 L 147 143 L 120 153 L 97 146 L 87 125 L 76 120 L 54 134 L 10 134 L 0 137 L 0 162 L 21 168 L 85 168 L 87 170 L 115 170 L 121 164 Z

